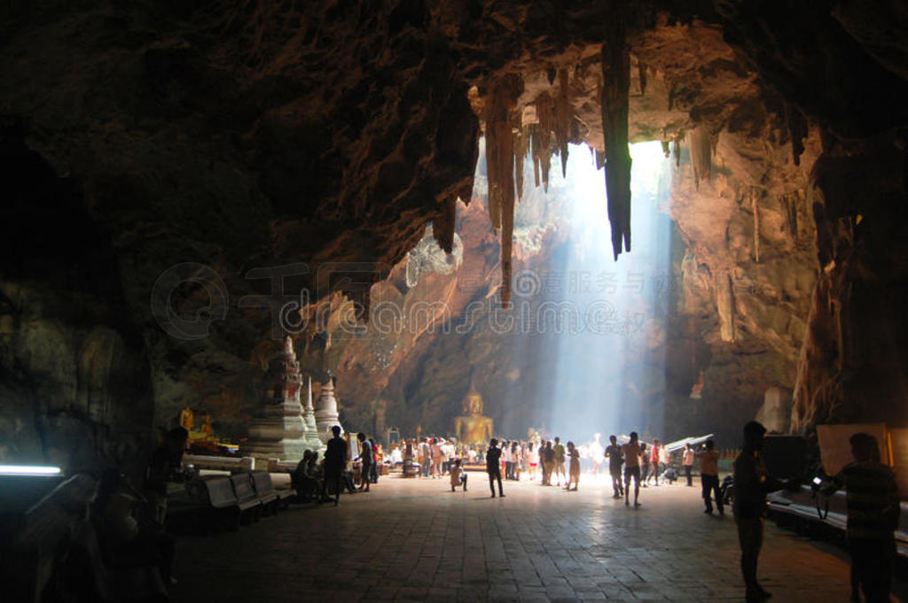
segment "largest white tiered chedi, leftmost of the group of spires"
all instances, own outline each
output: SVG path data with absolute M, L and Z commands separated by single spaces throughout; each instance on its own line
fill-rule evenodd
M 249 426 L 249 441 L 242 445 L 244 455 L 262 459 L 297 462 L 310 446 L 303 439 L 305 423 L 300 404 L 300 363 L 290 337 L 281 355 L 271 360 L 266 384 L 265 404 Z

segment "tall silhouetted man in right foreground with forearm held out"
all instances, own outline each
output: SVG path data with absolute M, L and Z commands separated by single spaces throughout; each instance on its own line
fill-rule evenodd
M 766 471 L 760 458 L 765 434 L 766 428 L 761 423 L 745 424 L 744 449 L 735 459 L 735 523 L 741 544 L 741 573 L 747 588 L 747 603 L 762 603 L 769 598 L 769 593 L 756 581 L 756 562 L 763 546 L 766 494 L 790 485 L 776 480 Z

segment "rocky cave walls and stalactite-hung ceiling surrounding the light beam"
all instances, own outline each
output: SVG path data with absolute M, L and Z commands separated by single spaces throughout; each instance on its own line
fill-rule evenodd
M 186 407 L 240 441 L 287 335 L 353 431 L 449 433 L 471 388 L 545 427 L 551 339 L 489 324 L 569 253 L 568 157 L 603 269 L 646 251 L 644 142 L 637 429 L 908 427 L 902 2 L 46 0 L 0 33 L 0 462 L 139 473 Z

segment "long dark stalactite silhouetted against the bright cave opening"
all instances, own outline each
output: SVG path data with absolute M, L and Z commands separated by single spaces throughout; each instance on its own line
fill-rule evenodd
M 627 51 L 622 0 L 608 0 L 605 41 L 602 44 L 602 129 L 606 151 L 608 221 L 612 227 L 615 259 L 630 251 L 630 151 L 627 148 L 627 112 L 630 91 L 630 53 Z

